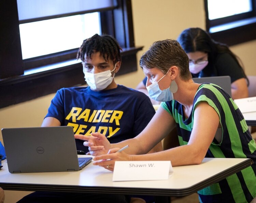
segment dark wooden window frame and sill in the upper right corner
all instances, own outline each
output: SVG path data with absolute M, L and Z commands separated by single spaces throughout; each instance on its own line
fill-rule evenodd
M 211 37 L 228 46 L 256 39 L 256 0 L 251 0 L 253 11 L 209 20 L 208 0 L 204 0 L 206 30 Z M 211 28 L 219 28 L 211 32 Z M 241 37 L 241 35 L 243 37 Z

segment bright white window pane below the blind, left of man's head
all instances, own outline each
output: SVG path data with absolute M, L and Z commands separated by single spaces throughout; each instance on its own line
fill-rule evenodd
M 101 34 L 99 12 L 20 24 L 19 31 L 23 59 L 62 52 Z

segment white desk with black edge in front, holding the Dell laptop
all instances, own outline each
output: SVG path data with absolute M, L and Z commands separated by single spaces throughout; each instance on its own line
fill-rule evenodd
M 83 156 L 86 155 L 79 155 Z M 173 167 L 168 180 L 113 182 L 112 172 L 92 163 L 76 172 L 12 174 L 4 160 L 0 187 L 4 190 L 186 196 L 251 164 L 251 159 L 204 158 L 199 165 Z

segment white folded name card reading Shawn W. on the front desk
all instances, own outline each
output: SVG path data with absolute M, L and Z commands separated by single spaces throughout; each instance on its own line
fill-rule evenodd
M 113 181 L 167 180 L 171 161 L 116 161 Z

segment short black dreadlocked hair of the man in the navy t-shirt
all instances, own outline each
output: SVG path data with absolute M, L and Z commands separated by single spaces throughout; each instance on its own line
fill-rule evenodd
M 115 64 L 117 61 L 121 62 L 120 50 L 123 49 L 112 36 L 107 34 L 95 34 L 93 37 L 83 41 L 83 44 L 77 52 L 76 59 L 84 61 L 85 54 L 86 57 L 91 58 L 91 54 L 100 52 L 100 56 L 102 56 L 105 61 L 109 61 L 110 59 Z

